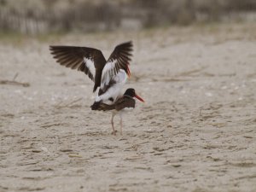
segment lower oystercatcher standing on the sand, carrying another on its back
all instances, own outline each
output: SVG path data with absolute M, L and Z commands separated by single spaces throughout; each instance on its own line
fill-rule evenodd
M 120 134 L 122 135 L 122 130 L 123 130 L 122 114 L 129 109 L 135 108 L 135 99 L 133 99 L 133 97 L 136 97 L 141 102 L 144 102 L 143 98 L 138 96 L 133 88 L 129 88 L 125 90 L 125 94 L 123 96 L 119 96 L 118 99 L 112 105 L 108 105 L 106 103 L 101 102 L 99 105 L 97 105 L 97 108 L 92 108 L 92 110 L 100 110 L 100 111 L 102 110 L 102 111 L 112 112 L 111 125 L 113 128 L 113 135 L 115 135 L 115 132 L 116 132 L 113 127 L 113 117 L 116 114 L 119 114 Z

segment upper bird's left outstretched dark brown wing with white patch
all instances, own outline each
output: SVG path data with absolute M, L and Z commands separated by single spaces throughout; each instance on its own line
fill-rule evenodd
M 106 60 L 99 49 L 74 46 L 49 46 L 51 54 L 62 66 L 78 69 L 95 82 L 93 91 L 101 85 Z

